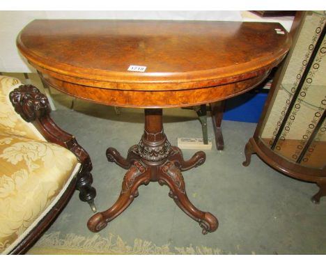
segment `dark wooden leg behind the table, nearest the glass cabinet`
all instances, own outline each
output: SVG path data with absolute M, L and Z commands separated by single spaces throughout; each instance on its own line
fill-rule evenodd
M 222 135 L 222 119 L 224 112 L 225 101 L 214 102 L 210 104 L 212 114 L 212 125 L 215 134 L 215 143 L 217 150 L 224 149 L 224 139 Z

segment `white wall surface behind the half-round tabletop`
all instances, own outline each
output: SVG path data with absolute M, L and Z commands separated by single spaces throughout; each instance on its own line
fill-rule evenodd
M 0 72 L 34 72 L 17 51 L 15 40 L 33 19 L 183 19 L 265 21 L 241 11 L 0 11 Z M 290 29 L 292 17 L 279 18 Z

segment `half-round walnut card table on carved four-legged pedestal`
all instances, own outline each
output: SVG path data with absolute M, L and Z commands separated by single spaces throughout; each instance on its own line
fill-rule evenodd
M 141 141 L 124 158 L 114 148 L 107 159 L 127 169 L 116 203 L 88 221 L 102 230 L 157 181 L 203 234 L 217 218 L 187 198 L 182 171 L 205 162 L 196 152 L 185 161 L 171 146 L 162 109 L 217 102 L 249 91 L 286 56 L 290 38 L 276 23 L 155 20 L 34 20 L 17 47 L 42 78 L 63 93 L 118 107 L 145 109 Z

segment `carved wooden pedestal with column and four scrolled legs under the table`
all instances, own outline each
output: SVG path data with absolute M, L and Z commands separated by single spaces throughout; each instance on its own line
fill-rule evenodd
M 127 169 L 121 194 L 114 205 L 94 214 L 88 221 L 93 232 L 102 230 L 109 221 L 118 217 L 138 196 L 138 187 L 157 181 L 170 188 L 169 196 L 189 217 L 199 223 L 203 234 L 217 229 L 218 221 L 210 212 L 198 210 L 189 201 L 181 171 L 192 169 L 205 162 L 205 153 L 196 152 L 185 161 L 181 150 L 171 146 L 163 132 L 162 109 L 146 109 L 145 131 L 138 145 L 132 146 L 123 158 L 114 148 L 107 149 L 107 159 Z

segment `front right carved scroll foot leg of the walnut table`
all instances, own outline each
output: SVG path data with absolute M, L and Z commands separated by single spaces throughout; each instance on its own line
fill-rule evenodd
M 214 232 L 219 224 L 217 218 L 210 214 L 210 212 L 202 212 L 192 205 L 187 197 L 185 181 L 180 169 L 173 162 L 167 161 L 160 166 L 159 174 L 158 182 L 160 185 L 167 185 L 171 189 L 169 196 L 173 198 L 183 212 L 199 223 L 199 226 L 203 228 L 203 235 L 208 232 Z

